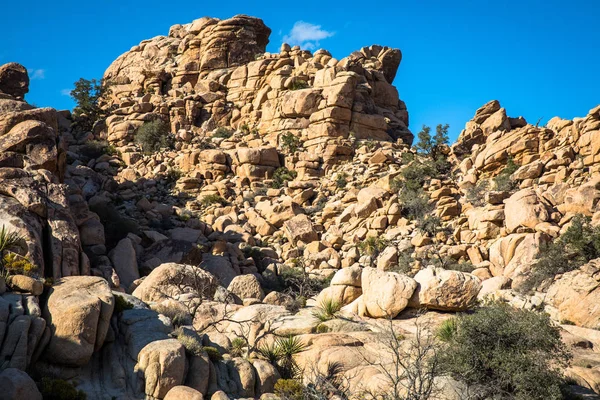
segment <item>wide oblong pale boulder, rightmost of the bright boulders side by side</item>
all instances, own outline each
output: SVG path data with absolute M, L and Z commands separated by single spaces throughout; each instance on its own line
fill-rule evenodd
M 410 300 L 413 308 L 464 311 L 471 307 L 481 289 L 481 280 L 460 271 L 428 267 L 415 275 L 419 284 Z

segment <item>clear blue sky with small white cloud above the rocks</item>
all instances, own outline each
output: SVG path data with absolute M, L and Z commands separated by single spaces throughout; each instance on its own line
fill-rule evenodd
M 101 77 L 120 54 L 171 25 L 235 14 L 265 21 L 273 30 L 269 51 L 284 38 L 337 58 L 371 44 L 400 48 L 394 84 L 415 133 L 449 123 L 455 139 L 492 99 L 532 123 L 584 116 L 600 104 L 599 0 L 7 3 L 0 64 L 30 69 L 27 100 L 38 106 L 71 108 L 65 93 L 73 82 Z

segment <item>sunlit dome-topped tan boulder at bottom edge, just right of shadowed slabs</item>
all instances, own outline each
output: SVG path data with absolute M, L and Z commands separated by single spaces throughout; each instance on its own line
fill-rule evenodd
M 138 355 L 136 371 L 145 382 L 147 396 L 164 398 L 185 378 L 185 348 L 177 339 L 151 342 Z

